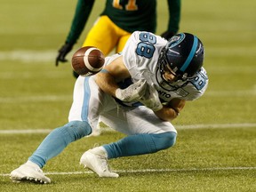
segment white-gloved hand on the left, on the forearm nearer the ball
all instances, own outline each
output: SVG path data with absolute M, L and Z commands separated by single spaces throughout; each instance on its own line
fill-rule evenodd
M 126 89 L 116 89 L 116 98 L 128 102 L 137 101 L 145 94 L 146 89 L 146 80 L 139 80 L 138 82 L 128 86 Z

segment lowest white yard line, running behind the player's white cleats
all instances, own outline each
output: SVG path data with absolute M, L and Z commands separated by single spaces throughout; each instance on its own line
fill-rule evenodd
M 234 170 L 256 170 L 256 167 L 206 167 L 188 169 L 141 169 L 141 170 L 114 170 L 113 172 L 133 173 L 133 172 L 214 172 L 214 171 L 234 171 Z M 85 172 L 44 172 L 45 175 L 72 175 L 72 174 L 92 174 L 92 171 Z M 0 173 L 0 176 L 10 176 L 10 173 Z

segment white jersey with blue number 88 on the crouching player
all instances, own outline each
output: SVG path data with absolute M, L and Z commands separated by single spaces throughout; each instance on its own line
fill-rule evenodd
M 148 84 L 155 84 L 163 103 L 173 98 L 180 98 L 181 100 L 199 98 L 204 94 L 208 84 L 208 77 L 204 68 L 201 68 L 193 79 L 179 80 L 173 83 L 172 86 L 164 83 L 160 71 L 158 71 L 157 61 L 166 44 L 167 41 L 164 38 L 149 32 L 136 31 L 132 33 L 122 52 L 124 65 L 132 76 L 132 82 L 146 79 Z M 128 84 L 120 84 L 123 88 L 128 85 L 129 82 Z

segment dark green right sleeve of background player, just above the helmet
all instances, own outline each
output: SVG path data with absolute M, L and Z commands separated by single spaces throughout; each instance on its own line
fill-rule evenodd
M 180 0 L 168 0 L 168 8 L 169 8 L 168 31 L 177 33 L 180 28 L 180 11 L 181 11 Z

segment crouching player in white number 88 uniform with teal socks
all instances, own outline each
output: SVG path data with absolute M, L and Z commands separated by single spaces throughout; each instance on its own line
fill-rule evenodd
M 127 134 L 81 156 L 80 164 L 100 177 L 118 177 L 108 170 L 108 159 L 171 148 L 177 135 L 172 120 L 187 100 L 199 98 L 206 90 L 203 61 L 204 46 L 192 34 L 180 33 L 167 41 L 134 32 L 123 52 L 106 58 L 100 73 L 77 78 L 68 124 L 50 132 L 28 162 L 11 172 L 11 179 L 50 183 L 41 168 L 69 143 L 89 135 L 99 117 Z

